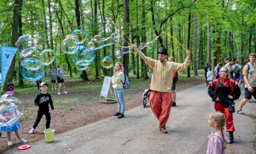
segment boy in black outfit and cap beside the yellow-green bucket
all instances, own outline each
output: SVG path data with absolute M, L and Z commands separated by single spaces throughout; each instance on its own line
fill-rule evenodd
M 49 111 L 49 103 L 51 105 L 52 110 L 54 110 L 54 107 L 53 107 L 52 97 L 51 97 L 50 93 L 47 92 L 47 86 L 48 86 L 48 84 L 45 82 L 42 82 L 40 84 L 41 92 L 37 94 L 35 101 L 34 101 L 34 104 L 35 104 L 35 107 L 37 110 L 37 116 L 36 116 L 35 123 L 34 123 L 33 127 L 30 129 L 29 133 L 35 133 L 35 128 L 39 124 L 39 122 L 42 118 L 42 115 L 44 115 L 44 114 L 46 116 L 46 129 L 49 129 L 49 127 L 50 127 L 51 114 Z

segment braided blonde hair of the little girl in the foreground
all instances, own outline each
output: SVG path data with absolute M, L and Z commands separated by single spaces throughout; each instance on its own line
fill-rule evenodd
M 217 127 L 219 127 L 221 129 L 221 135 L 222 135 L 222 139 L 223 139 L 223 147 L 224 147 L 224 149 L 226 149 L 227 144 L 225 142 L 224 133 L 223 133 L 223 129 L 225 126 L 225 115 L 221 112 L 212 112 L 212 113 L 210 113 L 210 116 L 212 117 L 214 122 L 217 123 Z

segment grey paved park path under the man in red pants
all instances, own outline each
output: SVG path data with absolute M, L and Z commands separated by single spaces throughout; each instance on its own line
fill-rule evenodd
M 123 119 L 110 117 L 57 134 L 54 143 L 41 140 L 28 150 L 6 153 L 205 153 L 207 136 L 212 131 L 208 115 L 214 111 L 210 100 L 205 84 L 178 92 L 177 107 L 172 107 L 166 125 L 167 134 L 158 130 L 151 108 L 141 105 L 125 112 Z M 240 101 L 236 103 L 237 109 Z M 256 153 L 255 105 L 246 104 L 246 115 L 233 114 L 235 143 L 227 146 L 226 153 Z

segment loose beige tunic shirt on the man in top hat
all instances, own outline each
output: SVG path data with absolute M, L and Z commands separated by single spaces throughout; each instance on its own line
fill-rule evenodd
M 189 63 L 190 61 L 180 64 L 165 60 L 165 64 L 162 64 L 160 61 L 148 58 L 146 64 L 153 69 L 150 89 L 160 92 L 172 92 L 174 72 L 186 69 Z

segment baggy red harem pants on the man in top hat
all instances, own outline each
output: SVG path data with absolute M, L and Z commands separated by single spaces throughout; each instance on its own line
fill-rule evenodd
M 172 103 L 172 92 L 159 92 L 155 90 L 151 91 L 150 107 L 159 121 L 159 127 L 164 127 L 167 123 Z

